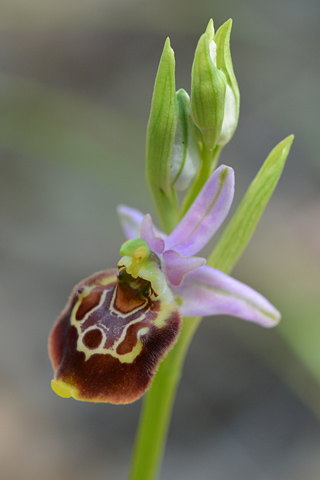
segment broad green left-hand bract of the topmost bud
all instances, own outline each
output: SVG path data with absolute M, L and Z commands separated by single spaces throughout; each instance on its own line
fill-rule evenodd
M 221 135 L 226 77 L 217 68 L 213 21 L 200 37 L 191 74 L 191 116 L 200 129 L 205 146 L 212 150 Z

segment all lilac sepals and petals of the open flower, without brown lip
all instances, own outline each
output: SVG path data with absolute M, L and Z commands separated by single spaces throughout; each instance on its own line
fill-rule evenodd
M 161 268 L 185 317 L 227 314 L 272 327 L 280 313 L 262 295 L 194 257 L 212 238 L 230 209 L 233 169 L 221 165 L 209 178 L 186 215 L 165 235 L 150 215 L 126 206 L 118 213 L 128 239 L 141 237 L 160 259 Z

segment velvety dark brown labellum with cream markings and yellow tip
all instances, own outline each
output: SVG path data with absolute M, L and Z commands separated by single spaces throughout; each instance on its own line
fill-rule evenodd
M 52 388 L 63 397 L 130 403 L 146 391 L 173 345 L 181 315 L 172 295 L 125 269 L 79 283 L 49 337 Z

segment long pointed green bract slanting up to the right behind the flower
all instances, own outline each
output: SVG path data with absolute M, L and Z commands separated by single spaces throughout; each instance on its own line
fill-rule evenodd
M 269 154 L 249 186 L 207 264 L 229 273 L 247 246 L 258 221 L 278 183 L 290 151 L 293 135 Z

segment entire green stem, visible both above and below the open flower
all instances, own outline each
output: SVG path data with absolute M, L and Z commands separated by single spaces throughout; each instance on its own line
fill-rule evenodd
M 212 151 L 204 149 L 202 152 L 202 166 L 182 206 L 183 214 L 215 169 L 221 149 L 222 147 L 216 147 Z M 178 223 L 176 210 L 166 208 L 164 201 L 166 199 L 157 198 L 156 200 L 159 200 L 155 204 L 158 207 L 160 222 L 167 227 L 166 231 L 171 231 Z M 184 359 L 200 321 L 201 318 L 198 317 L 184 319 L 176 345 L 160 364 L 156 378 L 144 398 L 129 480 L 153 480 L 157 476 Z

